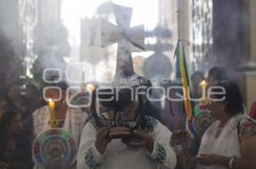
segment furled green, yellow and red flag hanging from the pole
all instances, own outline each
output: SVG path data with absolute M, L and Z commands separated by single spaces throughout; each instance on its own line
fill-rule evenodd
M 175 69 L 176 69 L 176 84 L 180 87 L 183 87 L 183 90 L 178 90 L 177 93 L 183 96 L 182 102 L 177 102 L 178 114 L 180 115 L 181 120 L 183 116 L 186 116 L 189 119 L 195 115 L 194 109 L 192 107 L 192 102 L 189 98 L 191 96 L 189 88 L 189 74 L 186 64 L 186 57 L 184 53 L 184 48 L 182 42 L 177 42 L 177 47 L 174 54 L 175 59 Z M 185 114 L 185 115 L 184 115 Z M 185 119 L 184 119 L 185 120 Z

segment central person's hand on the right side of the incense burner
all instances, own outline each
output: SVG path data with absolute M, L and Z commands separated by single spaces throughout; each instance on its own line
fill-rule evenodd
M 148 135 L 148 133 L 143 132 L 143 131 L 134 131 L 133 132 L 135 134 L 135 136 L 140 140 L 139 142 L 135 142 L 135 141 L 130 141 L 128 143 L 126 143 L 128 146 L 132 147 L 132 148 L 145 148 L 148 150 L 149 153 L 153 152 L 154 149 L 154 139 Z

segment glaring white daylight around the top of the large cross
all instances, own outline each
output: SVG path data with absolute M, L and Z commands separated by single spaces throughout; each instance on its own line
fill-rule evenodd
M 80 45 L 80 19 L 92 18 L 96 15 L 96 8 L 106 0 L 63 0 L 61 6 L 61 20 L 67 27 L 71 46 Z M 153 30 L 158 20 L 158 0 L 115 0 L 113 3 L 133 8 L 131 26 L 145 26 L 146 30 Z M 147 6 L 145 6 L 147 3 Z

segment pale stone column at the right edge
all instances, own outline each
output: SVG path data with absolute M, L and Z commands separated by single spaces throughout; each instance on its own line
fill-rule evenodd
M 256 1 L 243 1 L 243 54 L 247 62 L 241 66 L 241 82 L 247 110 L 256 102 Z

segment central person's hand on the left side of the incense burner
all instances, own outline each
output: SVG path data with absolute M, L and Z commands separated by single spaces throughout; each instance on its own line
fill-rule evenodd
M 95 146 L 99 153 L 102 155 L 106 151 L 108 144 L 111 142 L 111 139 L 108 138 L 108 132 L 109 128 L 103 127 L 98 131 L 96 135 Z

